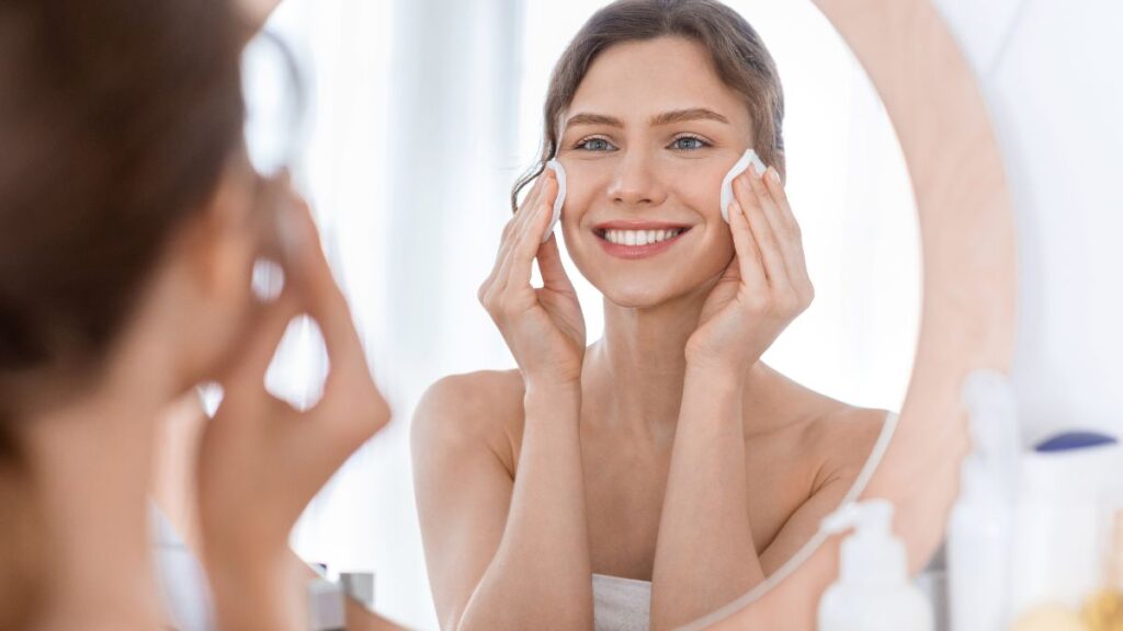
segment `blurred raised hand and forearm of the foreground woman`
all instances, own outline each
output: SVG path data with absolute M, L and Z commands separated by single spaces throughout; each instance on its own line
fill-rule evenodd
M 391 413 L 308 205 L 295 195 L 279 203 L 289 246 L 285 287 L 276 301 L 258 304 L 198 452 L 202 557 L 226 629 L 300 628 L 307 568 L 289 549 L 293 523 Z M 330 366 L 322 397 L 305 411 L 265 388 L 285 329 L 301 313 L 319 324 Z

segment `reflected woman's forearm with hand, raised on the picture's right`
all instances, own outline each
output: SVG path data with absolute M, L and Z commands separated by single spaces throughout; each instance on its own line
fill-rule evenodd
M 686 377 L 659 522 L 651 625 L 686 624 L 764 579 L 745 487 L 746 375 L 813 290 L 779 176 L 733 185 L 736 255 L 686 346 Z M 700 536 L 700 533 L 702 536 Z

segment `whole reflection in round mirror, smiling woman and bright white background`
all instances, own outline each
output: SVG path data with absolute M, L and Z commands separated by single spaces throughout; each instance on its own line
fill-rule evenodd
M 500 597 L 707 613 L 807 540 L 904 396 L 914 205 L 839 36 L 810 2 L 730 2 L 583 39 L 603 4 L 289 0 L 270 25 L 310 76 L 296 177 L 399 419 L 294 545 L 373 573 L 375 609 L 413 627 L 499 624 Z M 770 168 L 733 183 L 727 223 L 749 148 Z M 549 159 L 566 198 L 538 249 Z M 314 331 L 291 335 L 279 372 L 304 383 Z

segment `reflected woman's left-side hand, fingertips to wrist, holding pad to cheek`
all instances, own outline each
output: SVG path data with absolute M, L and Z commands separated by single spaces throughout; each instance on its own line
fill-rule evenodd
M 585 357 L 577 292 L 562 266 L 557 238 L 542 243 L 557 192 L 557 176 L 547 170 L 503 229 L 495 267 L 478 293 L 528 385 L 579 384 Z M 536 257 L 541 287 L 530 284 Z

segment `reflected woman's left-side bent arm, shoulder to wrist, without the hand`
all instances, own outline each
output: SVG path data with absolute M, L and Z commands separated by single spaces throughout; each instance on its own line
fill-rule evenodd
M 435 385 L 413 427 L 418 511 L 441 628 L 591 627 L 579 393 L 527 392 L 512 479 L 492 440 L 457 429 L 477 424 L 464 418 L 465 390 L 448 379 Z

